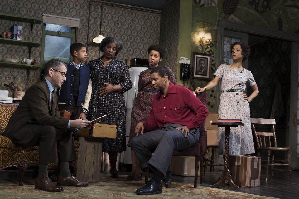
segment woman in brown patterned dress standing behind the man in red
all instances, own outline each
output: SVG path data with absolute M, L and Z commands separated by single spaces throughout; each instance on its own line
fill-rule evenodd
M 152 86 L 152 80 L 150 72 L 152 68 L 157 67 L 159 62 L 162 61 L 164 57 L 165 50 L 160 45 L 152 45 L 147 49 L 148 52 L 148 62 L 150 68 L 142 71 L 139 75 L 138 81 L 138 95 L 135 99 L 133 108 L 132 108 L 132 121 L 130 127 L 130 137 L 128 141 L 128 146 L 131 147 L 131 139 L 135 136 L 134 130 L 138 122 L 148 120 L 149 113 L 152 108 L 152 99 L 157 91 L 154 91 Z M 170 72 L 170 81 L 173 84 L 176 84 L 176 79 L 169 67 L 167 69 Z M 132 171 L 128 174 L 127 179 L 141 180 L 141 167 L 140 163 L 134 153 L 131 151 L 132 156 Z

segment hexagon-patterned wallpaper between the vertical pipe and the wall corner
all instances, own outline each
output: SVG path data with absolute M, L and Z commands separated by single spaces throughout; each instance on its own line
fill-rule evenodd
M 92 42 L 92 39 L 100 34 L 101 4 L 93 2 L 91 9 L 88 60 L 99 57 L 99 44 Z M 124 47 L 117 58 L 125 63 L 129 57 L 147 59 L 147 48 L 159 44 L 160 14 L 104 5 L 102 26 L 104 37 L 115 37 L 123 42 Z M 80 30 L 84 41 L 87 39 L 86 31 Z

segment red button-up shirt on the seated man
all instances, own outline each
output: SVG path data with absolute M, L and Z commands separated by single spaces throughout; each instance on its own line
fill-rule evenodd
M 152 131 L 166 124 L 181 124 L 190 130 L 199 128 L 208 116 L 207 107 L 187 88 L 171 82 L 166 95 L 158 92 L 152 101 L 152 110 L 145 131 Z

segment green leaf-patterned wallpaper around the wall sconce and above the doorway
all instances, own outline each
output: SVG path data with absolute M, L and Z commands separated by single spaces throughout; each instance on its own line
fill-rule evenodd
M 229 4 L 231 2 L 231 4 Z M 245 24 L 254 24 L 257 27 L 268 27 L 275 30 L 281 30 L 290 33 L 299 33 L 299 1 L 280 1 L 280 0 L 194 0 L 192 11 L 192 37 L 191 37 L 191 57 L 193 52 L 212 54 L 212 74 L 222 63 L 215 63 L 214 57 L 217 57 L 217 31 L 219 19 Z M 205 22 L 211 25 L 205 25 L 205 30 L 212 34 L 211 46 L 200 45 L 197 37 L 198 31 L 203 29 Z M 215 46 L 215 47 L 214 47 Z M 249 67 L 249 64 L 248 64 Z M 278 66 L 282 67 L 282 66 Z M 192 66 L 191 66 L 192 68 Z M 263 70 L 263 69 L 261 69 Z M 190 80 L 190 86 L 202 87 L 208 81 Z M 273 88 L 275 92 L 275 87 Z M 215 90 L 208 91 L 208 109 L 216 113 L 218 107 L 215 105 Z M 264 102 L 266 102 L 265 99 Z M 251 109 L 252 110 L 252 109 Z

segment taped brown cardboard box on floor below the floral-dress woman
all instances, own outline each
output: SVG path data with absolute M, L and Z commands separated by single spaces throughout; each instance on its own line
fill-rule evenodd
M 236 185 L 241 187 L 259 187 L 261 179 L 261 157 L 230 155 L 229 171 Z

